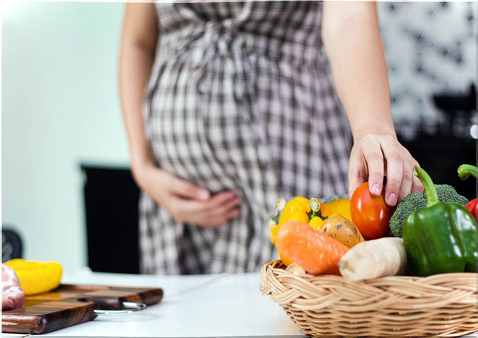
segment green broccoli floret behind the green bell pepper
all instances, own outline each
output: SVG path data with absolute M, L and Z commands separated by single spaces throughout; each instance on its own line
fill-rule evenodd
M 455 202 L 467 206 L 468 200 L 466 197 L 458 195 L 453 187 L 448 184 L 435 184 L 436 193 L 438 195 L 438 201 L 440 202 Z M 405 196 L 405 198 L 398 203 L 397 209 L 393 213 L 390 219 L 390 230 L 395 237 L 402 238 L 402 225 L 408 214 L 418 208 L 424 208 L 426 206 L 425 193 L 412 192 Z

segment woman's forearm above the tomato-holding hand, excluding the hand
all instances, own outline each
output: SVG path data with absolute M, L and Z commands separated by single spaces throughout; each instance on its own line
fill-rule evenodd
M 354 140 L 396 137 L 374 2 L 324 1 L 323 40 Z

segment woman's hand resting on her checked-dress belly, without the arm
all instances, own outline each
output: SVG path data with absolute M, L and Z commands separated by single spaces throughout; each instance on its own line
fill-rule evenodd
M 133 173 L 140 187 L 178 222 L 215 228 L 239 215 L 241 199 L 232 191 L 211 197 L 209 191 L 154 165 Z

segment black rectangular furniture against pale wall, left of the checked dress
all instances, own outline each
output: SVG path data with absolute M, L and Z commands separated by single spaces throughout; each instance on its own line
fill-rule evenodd
M 95 272 L 139 273 L 140 190 L 129 168 L 82 163 L 88 266 Z

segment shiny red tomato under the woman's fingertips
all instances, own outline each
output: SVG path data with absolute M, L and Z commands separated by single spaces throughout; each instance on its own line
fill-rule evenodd
M 385 203 L 385 186 L 379 196 L 369 191 L 369 182 L 359 185 L 350 199 L 352 222 L 366 240 L 381 238 L 389 231 L 389 222 L 395 207 Z

